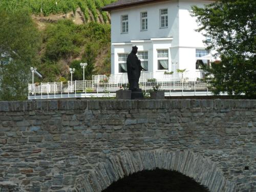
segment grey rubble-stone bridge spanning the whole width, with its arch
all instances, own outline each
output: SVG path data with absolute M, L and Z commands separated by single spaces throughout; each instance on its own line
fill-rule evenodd
M 209 191 L 255 191 L 256 100 L 0 102 L 0 191 L 102 191 L 176 170 Z

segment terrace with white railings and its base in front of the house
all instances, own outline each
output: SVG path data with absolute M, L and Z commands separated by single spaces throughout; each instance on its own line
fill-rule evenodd
M 174 78 L 172 74 L 164 74 L 155 78 L 156 82 L 151 82 L 154 80 L 153 73 L 141 73 L 140 88 L 145 95 L 152 90 L 154 84 L 158 84 L 165 91 L 165 96 L 212 95 L 208 91 L 207 83 L 198 78 L 189 78 L 189 75 Z M 115 92 L 127 84 L 126 73 L 93 75 L 92 80 L 73 80 L 67 83 L 31 83 L 28 84 L 28 99 L 115 97 Z

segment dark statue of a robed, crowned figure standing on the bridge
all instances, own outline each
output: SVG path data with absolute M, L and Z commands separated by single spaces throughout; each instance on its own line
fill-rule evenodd
M 140 59 L 138 59 L 136 53 L 138 52 L 138 47 L 134 46 L 132 52 L 128 55 L 126 60 L 127 65 L 127 75 L 130 84 L 130 89 L 132 91 L 141 91 L 139 89 L 139 79 L 142 70 Z

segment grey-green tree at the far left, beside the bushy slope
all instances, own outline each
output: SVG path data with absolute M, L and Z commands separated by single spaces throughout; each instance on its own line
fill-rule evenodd
M 26 98 L 39 46 L 40 33 L 28 11 L 0 9 L 0 99 Z

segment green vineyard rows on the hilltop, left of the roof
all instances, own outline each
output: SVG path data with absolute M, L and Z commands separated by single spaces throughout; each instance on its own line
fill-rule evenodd
M 80 8 L 86 22 L 90 18 L 97 21 L 99 14 L 102 16 L 104 23 L 108 21 L 106 12 L 100 10 L 101 7 L 115 2 L 116 0 L 1 0 L 0 7 L 7 11 L 16 11 L 28 9 L 33 14 L 50 15 L 57 13 L 72 12 L 76 14 L 76 9 Z

